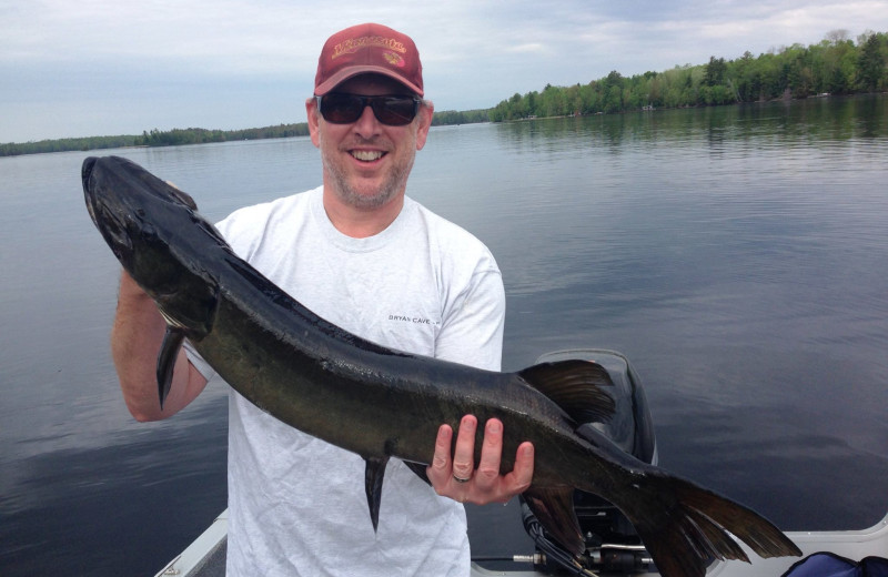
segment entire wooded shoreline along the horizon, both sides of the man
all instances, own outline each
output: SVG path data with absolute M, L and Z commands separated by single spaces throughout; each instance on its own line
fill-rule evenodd
M 527 118 L 614 114 L 633 110 L 712 107 L 888 91 L 888 33 L 865 32 L 857 42 L 836 30 L 818 44 L 793 44 L 736 60 L 712 57 L 664 72 L 624 77 L 612 71 L 587 84 L 546 85 L 515 93 L 491 109 L 435 112 L 432 124 L 503 122 Z M 87 136 L 0 144 L 0 156 L 125 146 L 171 146 L 309 134 L 305 122 L 245 130 L 199 128 L 142 134 Z

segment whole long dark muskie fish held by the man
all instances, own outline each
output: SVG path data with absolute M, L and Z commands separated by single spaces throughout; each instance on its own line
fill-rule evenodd
M 366 460 L 373 526 L 391 457 L 424 469 L 442 423 L 473 414 L 504 424 L 502 468 L 535 447 L 524 493 L 546 530 L 578 559 L 573 492 L 599 495 L 632 522 L 662 575 L 703 576 L 712 558 L 799 549 L 753 510 L 627 455 L 593 427 L 614 402 L 607 372 L 586 361 L 497 373 L 393 351 L 324 321 L 239 259 L 190 196 L 133 162 L 89 158 L 82 169 L 95 226 L 168 322 L 158 360 L 161 404 L 188 337 L 261 409 Z M 483 428 L 478 427 L 476 462 Z

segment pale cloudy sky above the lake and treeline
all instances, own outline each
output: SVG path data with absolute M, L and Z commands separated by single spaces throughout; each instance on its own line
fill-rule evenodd
M 0 143 L 305 121 L 321 47 L 413 38 L 436 110 L 888 31 L 885 0 L 0 0 Z

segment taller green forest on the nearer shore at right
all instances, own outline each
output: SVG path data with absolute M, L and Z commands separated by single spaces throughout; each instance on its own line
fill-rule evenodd
M 867 32 L 858 42 L 830 32 L 820 43 L 793 44 L 736 60 L 712 57 L 700 65 L 676 67 L 629 78 L 613 71 L 588 84 L 546 85 L 515 93 L 490 112 L 494 122 L 533 117 L 609 114 L 629 110 L 706 107 L 818 94 L 888 90 L 888 34 Z

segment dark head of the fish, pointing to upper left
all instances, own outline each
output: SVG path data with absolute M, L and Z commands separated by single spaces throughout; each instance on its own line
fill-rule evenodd
M 219 294 L 202 262 L 214 245 L 228 250 L 215 227 L 191 196 L 130 160 L 89 158 L 81 178 L 90 217 L 118 261 L 171 326 L 202 338 Z

